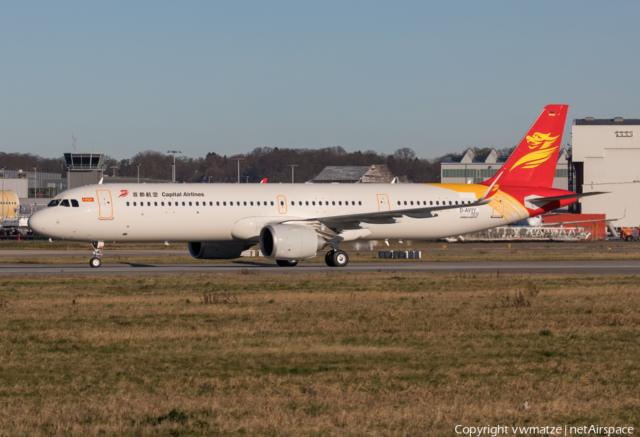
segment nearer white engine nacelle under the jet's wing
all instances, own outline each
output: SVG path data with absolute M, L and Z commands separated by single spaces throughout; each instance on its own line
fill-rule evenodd
M 324 249 L 326 241 L 309 226 L 268 225 L 260 231 L 260 250 L 269 259 L 307 259 Z

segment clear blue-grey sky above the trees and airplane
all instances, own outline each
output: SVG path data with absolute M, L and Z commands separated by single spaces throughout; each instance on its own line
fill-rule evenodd
M 640 2 L 0 0 L 0 151 L 420 158 L 640 118 Z

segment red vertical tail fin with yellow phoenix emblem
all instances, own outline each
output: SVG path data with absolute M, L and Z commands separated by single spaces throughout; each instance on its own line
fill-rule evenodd
M 550 104 L 545 107 L 496 176 L 482 185 L 491 185 L 499 177 L 500 185 L 538 185 L 550 188 L 562 145 L 567 108 L 566 104 Z

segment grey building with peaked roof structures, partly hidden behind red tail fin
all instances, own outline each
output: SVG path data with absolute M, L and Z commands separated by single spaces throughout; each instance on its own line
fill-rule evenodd
M 553 188 L 567 190 L 569 186 L 569 161 L 565 149 L 560 149 L 558 163 L 555 166 Z M 462 156 L 447 157 L 440 163 L 442 183 L 481 183 L 493 177 L 504 165 L 508 156 L 498 156 L 491 149 L 486 156 L 476 156 L 474 151 L 466 149 Z

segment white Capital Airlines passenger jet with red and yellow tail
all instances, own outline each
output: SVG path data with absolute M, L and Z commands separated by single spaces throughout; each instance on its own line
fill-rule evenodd
M 567 105 L 543 109 L 500 171 L 483 183 L 97 184 L 65 190 L 31 215 L 36 234 L 90 242 L 187 242 L 196 259 L 263 256 L 295 266 L 325 247 L 331 267 L 348 264 L 339 244 L 438 239 L 535 217 L 585 195 L 551 188 Z M 102 182 L 102 181 L 101 181 Z

